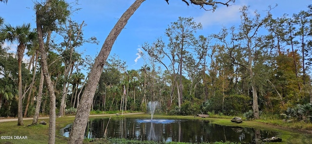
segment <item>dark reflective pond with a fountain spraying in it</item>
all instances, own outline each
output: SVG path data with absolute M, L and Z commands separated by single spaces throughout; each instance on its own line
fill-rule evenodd
M 71 126 L 72 124 L 61 129 L 63 136 L 69 136 Z M 209 120 L 154 119 L 151 122 L 150 119 L 137 118 L 90 119 L 85 138 L 104 138 L 105 134 L 108 138 L 140 141 L 190 143 L 231 141 L 243 144 L 254 143 L 255 139 L 278 136 L 275 131 L 220 126 L 211 124 Z

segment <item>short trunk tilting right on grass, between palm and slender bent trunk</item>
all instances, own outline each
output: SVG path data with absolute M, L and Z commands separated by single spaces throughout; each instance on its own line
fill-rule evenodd
M 37 95 L 37 103 L 36 103 L 35 115 L 34 115 L 32 125 L 37 125 L 37 123 L 38 123 L 41 100 L 42 100 L 43 82 L 44 82 L 44 75 L 43 75 L 42 68 L 41 68 L 39 90 L 38 90 L 38 95 Z

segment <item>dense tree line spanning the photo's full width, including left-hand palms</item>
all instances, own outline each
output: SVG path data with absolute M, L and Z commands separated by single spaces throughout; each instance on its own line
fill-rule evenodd
M 60 9 L 63 13 L 55 15 Z M 92 82 L 92 110 L 146 111 L 148 102 L 158 101 L 163 114 L 214 111 L 251 113 L 256 119 L 261 113 L 312 118 L 312 6 L 277 18 L 271 9 L 261 16 L 243 6 L 239 26 L 207 36 L 197 34 L 202 25 L 193 18 L 178 18 L 163 38 L 143 44 L 141 69 L 127 69 L 113 54 L 95 64 L 98 82 L 90 82 L 89 76 L 96 74 L 82 73 L 83 68 L 96 69 L 93 60 L 75 50 L 98 43 L 83 36 L 84 21 L 72 21 L 70 6 L 62 0 L 37 3 L 35 10 L 36 29 L 30 24 L 13 27 L 0 18 L 0 116 L 18 116 L 18 125 L 23 117 L 34 116 L 35 125 L 39 114 L 55 120 L 89 106 L 90 97 L 83 93 L 92 94 Z M 9 43 L 17 43 L 16 54 L 10 53 Z M 28 61 L 22 60 L 24 54 Z M 50 128 L 53 137 L 55 129 Z

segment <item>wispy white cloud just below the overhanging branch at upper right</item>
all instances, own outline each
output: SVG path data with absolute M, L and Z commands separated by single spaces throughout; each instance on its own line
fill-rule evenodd
M 202 16 L 195 17 L 196 22 L 200 22 L 203 27 L 212 25 L 226 25 L 240 20 L 239 9 L 241 5 L 231 5 L 229 7 L 218 7 L 215 12 L 206 11 Z

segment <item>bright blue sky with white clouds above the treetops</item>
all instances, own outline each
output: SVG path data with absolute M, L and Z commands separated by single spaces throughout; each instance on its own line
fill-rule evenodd
M 66 0 L 73 2 L 75 0 Z M 96 57 L 106 36 L 114 27 L 118 18 L 135 0 L 79 0 L 81 8 L 73 14 L 72 19 L 81 23 L 85 21 L 87 26 L 83 28 L 84 36 L 96 36 L 99 45 L 85 44 L 78 48 L 80 53 Z M 222 0 L 221 0 L 222 1 Z M 128 69 L 139 69 L 144 61 L 139 58 L 137 62 L 138 48 L 145 42 L 152 43 L 157 37 L 164 37 L 165 30 L 170 22 L 175 22 L 178 17 L 193 17 L 196 22 L 203 25 L 203 30 L 197 31 L 198 35 L 208 36 L 218 33 L 223 26 L 231 27 L 240 22 L 239 8 L 249 5 L 250 11 L 257 10 L 264 16 L 268 6 L 278 6 L 271 12 L 273 17 L 283 14 L 296 14 L 301 10 L 307 10 L 312 0 L 236 0 L 226 7 L 219 5 L 215 12 L 205 11 L 196 5 L 187 6 L 182 0 L 146 0 L 130 18 L 125 29 L 118 36 L 112 54 L 119 55 L 120 59 L 126 61 Z M 0 17 L 4 18 L 6 24 L 13 26 L 23 23 L 31 23 L 35 28 L 35 12 L 33 10 L 34 0 L 8 0 L 7 4 L 0 3 Z M 13 44 L 12 50 L 16 49 Z

